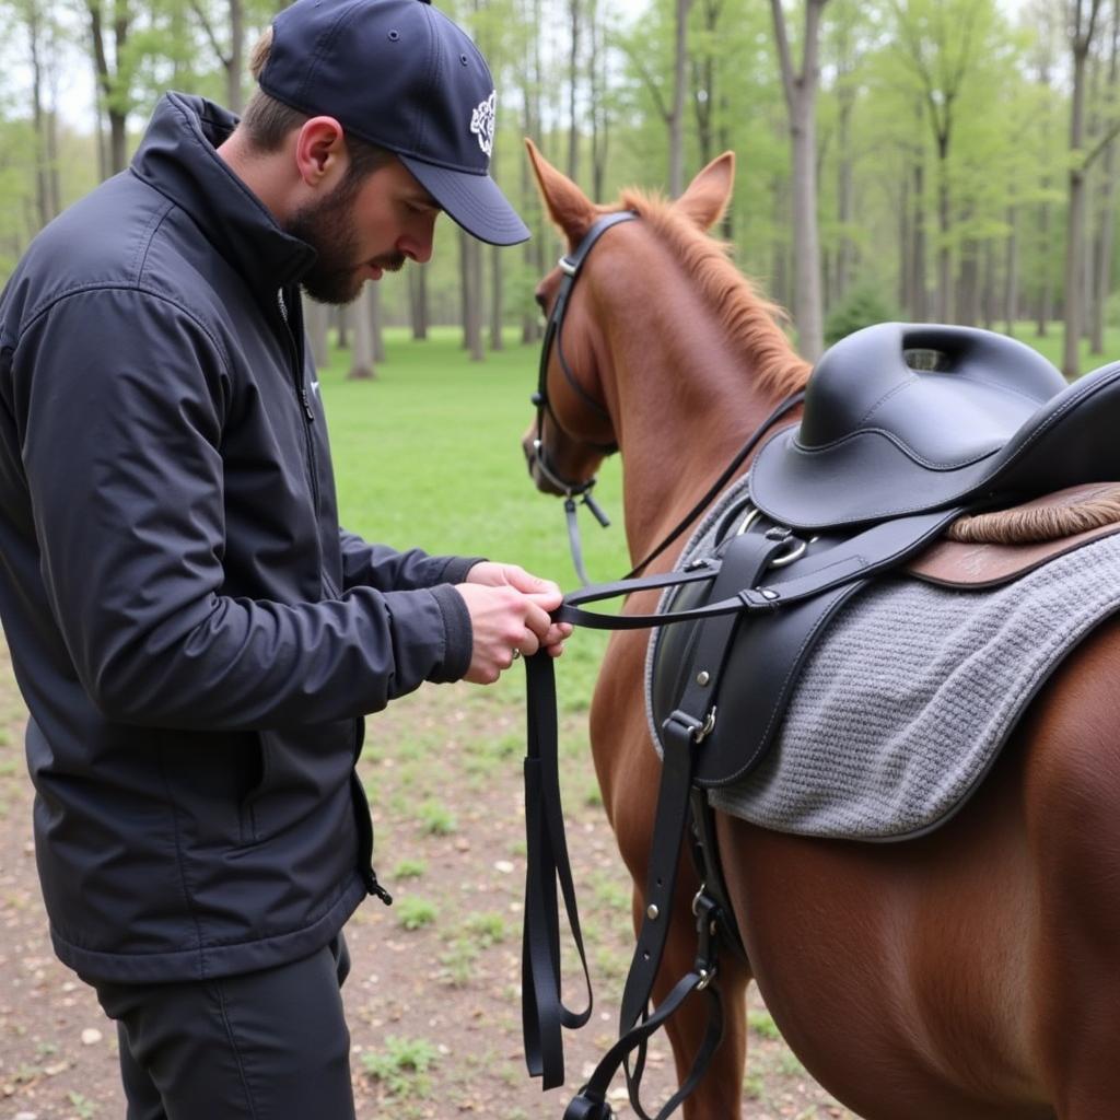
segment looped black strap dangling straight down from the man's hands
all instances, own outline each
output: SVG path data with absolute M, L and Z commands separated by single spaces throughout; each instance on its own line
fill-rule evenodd
M 591 978 L 579 926 L 576 888 L 563 829 L 557 737 L 556 673 L 539 651 L 525 659 L 529 747 L 525 757 L 525 916 L 522 926 L 521 1019 L 525 1064 L 543 1089 L 563 1084 L 561 1028 L 577 1029 L 591 1016 Z M 587 1007 L 572 1011 L 561 997 L 560 916 L 557 883 L 584 967 Z

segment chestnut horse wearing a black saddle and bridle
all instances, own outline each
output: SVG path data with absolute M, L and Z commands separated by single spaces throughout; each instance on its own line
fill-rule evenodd
M 636 559 L 809 371 L 773 305 L 706 232 L 731 192 L 730 153 L 675 202 L 627 192 L 610 207 L 532 146 L 530 156 L 570 246 L 603 213 L 638 214 L 598 242 L 572 289 L 563 348 L 579 385 L 553 346 L 543 427 L 550 466 L 569 479 L 592 477 L 617 442 Z M 543 307 L 558 283 L 559 271 L 542 281 Z M 539 469 L 534 478 L 556 492 Z M 674 551 L 651 570 L 668 569 Z M 645 592 L 626 609 L 654 606 Z M 660 772 L 643 704 L 647 642 L 645 631 L 613 635 L 590 715 L 636 925 Z M 866 1120 L 1120 1116 L 1118 680 L 1120 631 L 1104 624 L 1033 701 L 971 801 L 920 839 L 810 839 L 719 815 L 750 965 L 721 954 L 728 1026 L 687 1120 L 740 1114 L 752 979 L 805 1067 Z M 655 1001 L 691 968 L 697 886 L 683 858 Z M 670 1020 L 680 1079 L 703 1033 L 702 1004 Z

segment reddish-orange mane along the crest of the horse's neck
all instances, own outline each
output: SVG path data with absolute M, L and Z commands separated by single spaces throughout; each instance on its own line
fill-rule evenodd
M 660 195 L 628 188 L 622 193 L 622 208 L 636 211 L 697 281 L 732 344 L 750 355 L 753 377 L 764 393 L 781 398 L 804 389 L 810 365 L 778 326 L 786 318 L 784 310 L 731 263 L 729 245 L 698 228 Z

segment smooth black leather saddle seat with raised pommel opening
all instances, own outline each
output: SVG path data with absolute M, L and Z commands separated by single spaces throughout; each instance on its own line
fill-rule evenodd
M 1117 416 L 1120 362 L 1071 385 L 1004 335 L 879 324 L 816 364 L 801 423 L 755 459 L 752 500 L 778 524 L 830 530 L 1114 479 Z

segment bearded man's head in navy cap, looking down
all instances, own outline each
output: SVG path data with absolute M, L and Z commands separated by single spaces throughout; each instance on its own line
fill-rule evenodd
M 317 298 L 347 301 L 363 279 L 427 259 L 440 209 L 493 244 L 529 236 L 488 174 L 489 71 L 430 3 L 297 0 L 252 65 L 260 88 L 239 131 L 252 152 L 295 152 L 308 189 L 281 222 L 319 252 Z M 394 215 L 402 242 L 379 242 Z

